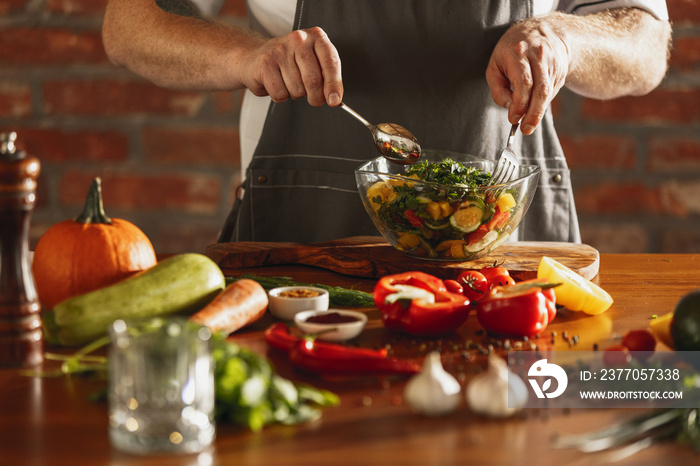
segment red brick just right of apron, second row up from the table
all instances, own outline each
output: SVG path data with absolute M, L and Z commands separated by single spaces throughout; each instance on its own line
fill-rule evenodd
M 665 214 L 658 188 L 642 183 L 589 184 L 576 188 L 576 208 L 581 214 Z

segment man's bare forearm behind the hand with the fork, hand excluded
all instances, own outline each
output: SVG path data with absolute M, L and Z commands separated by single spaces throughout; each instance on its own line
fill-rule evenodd
M 644 95 L 666 74 L 670 24 L 645 11 L 557 13 L 540 21 L 548 22 L 567 45 L 571 62 L 566 87 L 578 94 L 597 99 Z

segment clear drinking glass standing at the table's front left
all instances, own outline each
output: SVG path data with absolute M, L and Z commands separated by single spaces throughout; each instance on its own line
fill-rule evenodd
M 109 435 L 134 454 L 196 453 L 215 436 L 211 331 L 178 318 L 109 328 Z

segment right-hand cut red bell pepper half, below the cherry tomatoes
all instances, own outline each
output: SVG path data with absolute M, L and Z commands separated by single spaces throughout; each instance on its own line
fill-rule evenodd
M 491 333 L 520 336 L 541 333 L 557 313 L 555 286 L 541 279 L 496 286 L 479 301 L 476 317 Z

